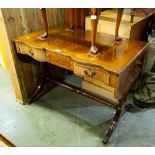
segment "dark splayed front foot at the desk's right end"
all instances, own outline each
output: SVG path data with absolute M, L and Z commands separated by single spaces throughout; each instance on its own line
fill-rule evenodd
M 113 118 L 113 120 L 111 122 L 111 125 L 110 125 L 110 127 L 109 127 L 109 129 L 108 129 L 108 131 L 107 131 L 107 133 L 105 135 L 105 137 L 103 138 L 103 141 L 102 142 L 104 144 L 106 144 L 108 142 L 109 138 L 113 134 L 113 132 L 114 132 L 114 130 L 115 130 L 115 128 L 116 128 L 116 126 L 117 126 L 117 124 L 119 122 L 119 119 L 121 117 L 121 113 L 122 113 L 122 110 L 121 109 L 117 109 L 116 110 L 116 113 L 115 113 L 115 116 L 114 116 L 114 118 Z

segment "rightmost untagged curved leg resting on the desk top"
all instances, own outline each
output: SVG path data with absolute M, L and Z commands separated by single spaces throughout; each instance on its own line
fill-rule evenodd
M 117 19 L 116 19 L 116 27 L 115 27 L 115 41 L 121 41 L 122 38 L 119 37 L 119 27 L 120 27 L 120 23 L 121 23 L 121 19 L 122 19 L 122 15 L 123 15 L 123 10 L 124 9 L 118 9 L 118 13 L 117 13 Z

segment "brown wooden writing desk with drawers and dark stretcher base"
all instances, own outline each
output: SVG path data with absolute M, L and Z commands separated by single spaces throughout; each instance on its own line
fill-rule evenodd
M 42 70 L 46 83 L 49 81 L 60 84 L 114 108 L 116 113 L 103 138 L 103 142 L 107 143 L 126 106 L 127 92 L 141 72 L 148 44 L 128 39 L 117 44 L 113 42 L 113 37 L 97 34 L 97 46 L 101 54 L 92 57 L 88 54 L 90 31 L 76 29 L 72 33 L 65 31 L 64 27 L 51 27 L 50 37 L 47 40 L 39 40 L 38 37 L 42 33 L 43 31 L 38 31 L 14 39 L 16 52 L 39 61 L 42 67 L 45 62 L 50 63 L 83 79 L 82 88 L 77 88 L 62 80 L 51 79 L 49 71 Z M 40 86 L 43 86 L 45 81 L 42 81 Z M 35 97 L 36 91 L 30 102 L 34 101 Z

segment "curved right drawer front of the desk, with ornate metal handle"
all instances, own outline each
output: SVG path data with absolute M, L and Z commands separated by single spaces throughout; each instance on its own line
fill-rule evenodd
M 82 77 L 89 77 L 101 80 L 106 85 L 109 85 L 110 74 L 104 70 L 99 70 L 94 67 L 89 67 L 81 64 L 74 64 L 74 74 Z

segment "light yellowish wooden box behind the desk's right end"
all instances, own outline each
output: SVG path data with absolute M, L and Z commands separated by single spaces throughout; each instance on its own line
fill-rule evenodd
M 148 15 L 138 15 L 139 10 L 135 10 L 134 22 L 130 23 L 131 19 L 131 9 L 124 9 L 122 16 L 119 35 L 122 38 L 128 38 L 133 40 L 145 40 L 147 41 L 149 31 L 152 27 L 153 12 L 150 12 Z M 142 14 L 142 13 L 141 13 Z M 117 18 L 117 9 L 106 10 L 101 12 L 98 20 L 97 33 L 104 33 L 108 35 L 113 35 L 115 32 Z M 91 19 L 90 16 L 86 17 L 85 20 L 85 30 L 91 30 Z

